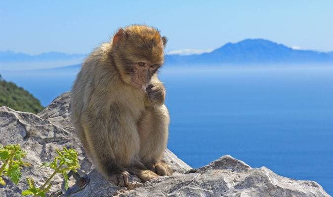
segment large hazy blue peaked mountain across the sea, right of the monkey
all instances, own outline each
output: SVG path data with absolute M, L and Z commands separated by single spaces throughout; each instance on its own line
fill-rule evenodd
M 265 39 L 245 39 L 227 43 L 199 55 L 167 55 L 166 64 L 308 64 L 333 63 L 333 52 L 296 50 Z

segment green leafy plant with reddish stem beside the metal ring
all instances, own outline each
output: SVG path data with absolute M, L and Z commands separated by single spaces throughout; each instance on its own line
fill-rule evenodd
M 63 151 L 55 150 L 58 154 L 51 163 L 43 163 L 42 166 L 50 167 L 54 169 L 52 175 L 46 180 L 46 182 L 40 187 L 37 188 L 35 182 L 32 178 L 27 178 L 27 183 L 29 189 L 22 192 L 23 196 L 34 195 L 34 197 L 46 197 L 47 191 L 51 188 L 49 184 L 50 180 L 57 173 L 63 175 L 65 180 L 65 188 L 68 189 L 68 176 L 67 173 L 70 170 L 77 171 L 76 169 L 80 168 L 78 153 L 74 149 L 63 148 Z

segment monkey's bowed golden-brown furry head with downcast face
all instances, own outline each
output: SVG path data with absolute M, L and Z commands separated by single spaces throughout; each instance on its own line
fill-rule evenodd
M 148 84 L 164 63 L 166 44 L 167 38 L 148 26 L 120 29 L 112 40 L 112 55 L 122 80 L 136 88 Z

